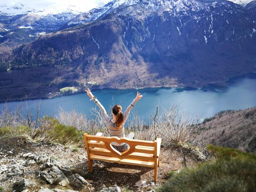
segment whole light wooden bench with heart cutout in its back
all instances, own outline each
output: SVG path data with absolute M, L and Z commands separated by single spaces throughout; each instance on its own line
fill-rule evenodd
M 84 134 L 84 143 L 88 155 L 89 172 L 93 172 L 93 160 L 139 165 L 155 169 L 154 181 L 157 182 L 157 167 L 160 165 L 160 145 L 162 139 L 144 141 L 125 137 L 104 137 L 102 133 Z M 127 143 L 130 148 L 124 152 L 114 149 L 110 143 Z

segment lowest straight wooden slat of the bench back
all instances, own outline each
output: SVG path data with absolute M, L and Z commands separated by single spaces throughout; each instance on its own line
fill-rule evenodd
M 105 161 L 105 162 L 113 162 L 113 163 L 121 163 L 126 165 L 139 165 L 145 167 L 154 167 L 154 162 L 146 162 L 140 160 L 133 160 L 133 159 L 119 159 L 116 157 L 105 157 L 101 155 L 93 155 L 91 154 L 91 159 L 98 160 L 98 161 Z

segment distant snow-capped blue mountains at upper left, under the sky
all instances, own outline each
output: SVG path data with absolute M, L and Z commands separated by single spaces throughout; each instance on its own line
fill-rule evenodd
M 5 52 L 54 32 L 83 11 L 71 5 L 0 4 L 0 50 Z

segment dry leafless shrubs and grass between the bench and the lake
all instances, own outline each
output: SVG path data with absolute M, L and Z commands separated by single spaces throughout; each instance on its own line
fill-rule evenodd
M 6 127 L 6 125 L 9 127 L 24 125 L 29 128 L 29 135 L 32 138 L 49 136 L 49 131 L 57 129 L 56 124 L 58 126 L 64 125 L 66 128 L 73 127 L 81 133 L 96 134 L 102 132 L 105 136 L 109 135 L 101 111 L 96 107 L 91 108 L 91 117 L 75 110 L 68 112 L 60 108 L 58 115 L 54 118 L 44 116 L 40 119 L 38 113 L 41 104 L 38 106 L 35 118 L 32 118 L 32 113 L 27 108 L 25 109 L 26 117 L 21 116 L 20 112 L 10 111 L 6 108 L 5 113 L 0 116 L 0 123 L 2 122 L 0 125 L 2 127 Z M 151 117 L 152 123 L 150 125 L 146 124 L 137 113 L 133 113 L 126 123 L 126 135 L 133 131 L 135 138 L 140 140 L 154 140 L 156 137 L 160 137 L 164 146 L 179 142 L 193 142 L 192 125 L 198 122 L 198 118 L 184 115 L 185 113 L 180 110 L 179 105 L 172 105 L 169 109 L 162 108 L 160 112 Z M 58 134 L 55 133 L 53 139 L 63 140 L 62 136 L 61 138 L 57 137 Z

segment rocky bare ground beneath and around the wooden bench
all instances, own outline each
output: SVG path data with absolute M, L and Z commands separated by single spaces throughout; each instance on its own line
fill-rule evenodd
M 186 165 L 196 163 L 196 155 L 186 156 Z M 184 166 L 182 154 L 163 148 L 158 181 L 154 170 L 140 166 L 94 161 L 89 174 L 83 147 L 63 146 L 25 137 L 0 140 L 0 191 L 148 191 L 166 180 L 170 171 Z

